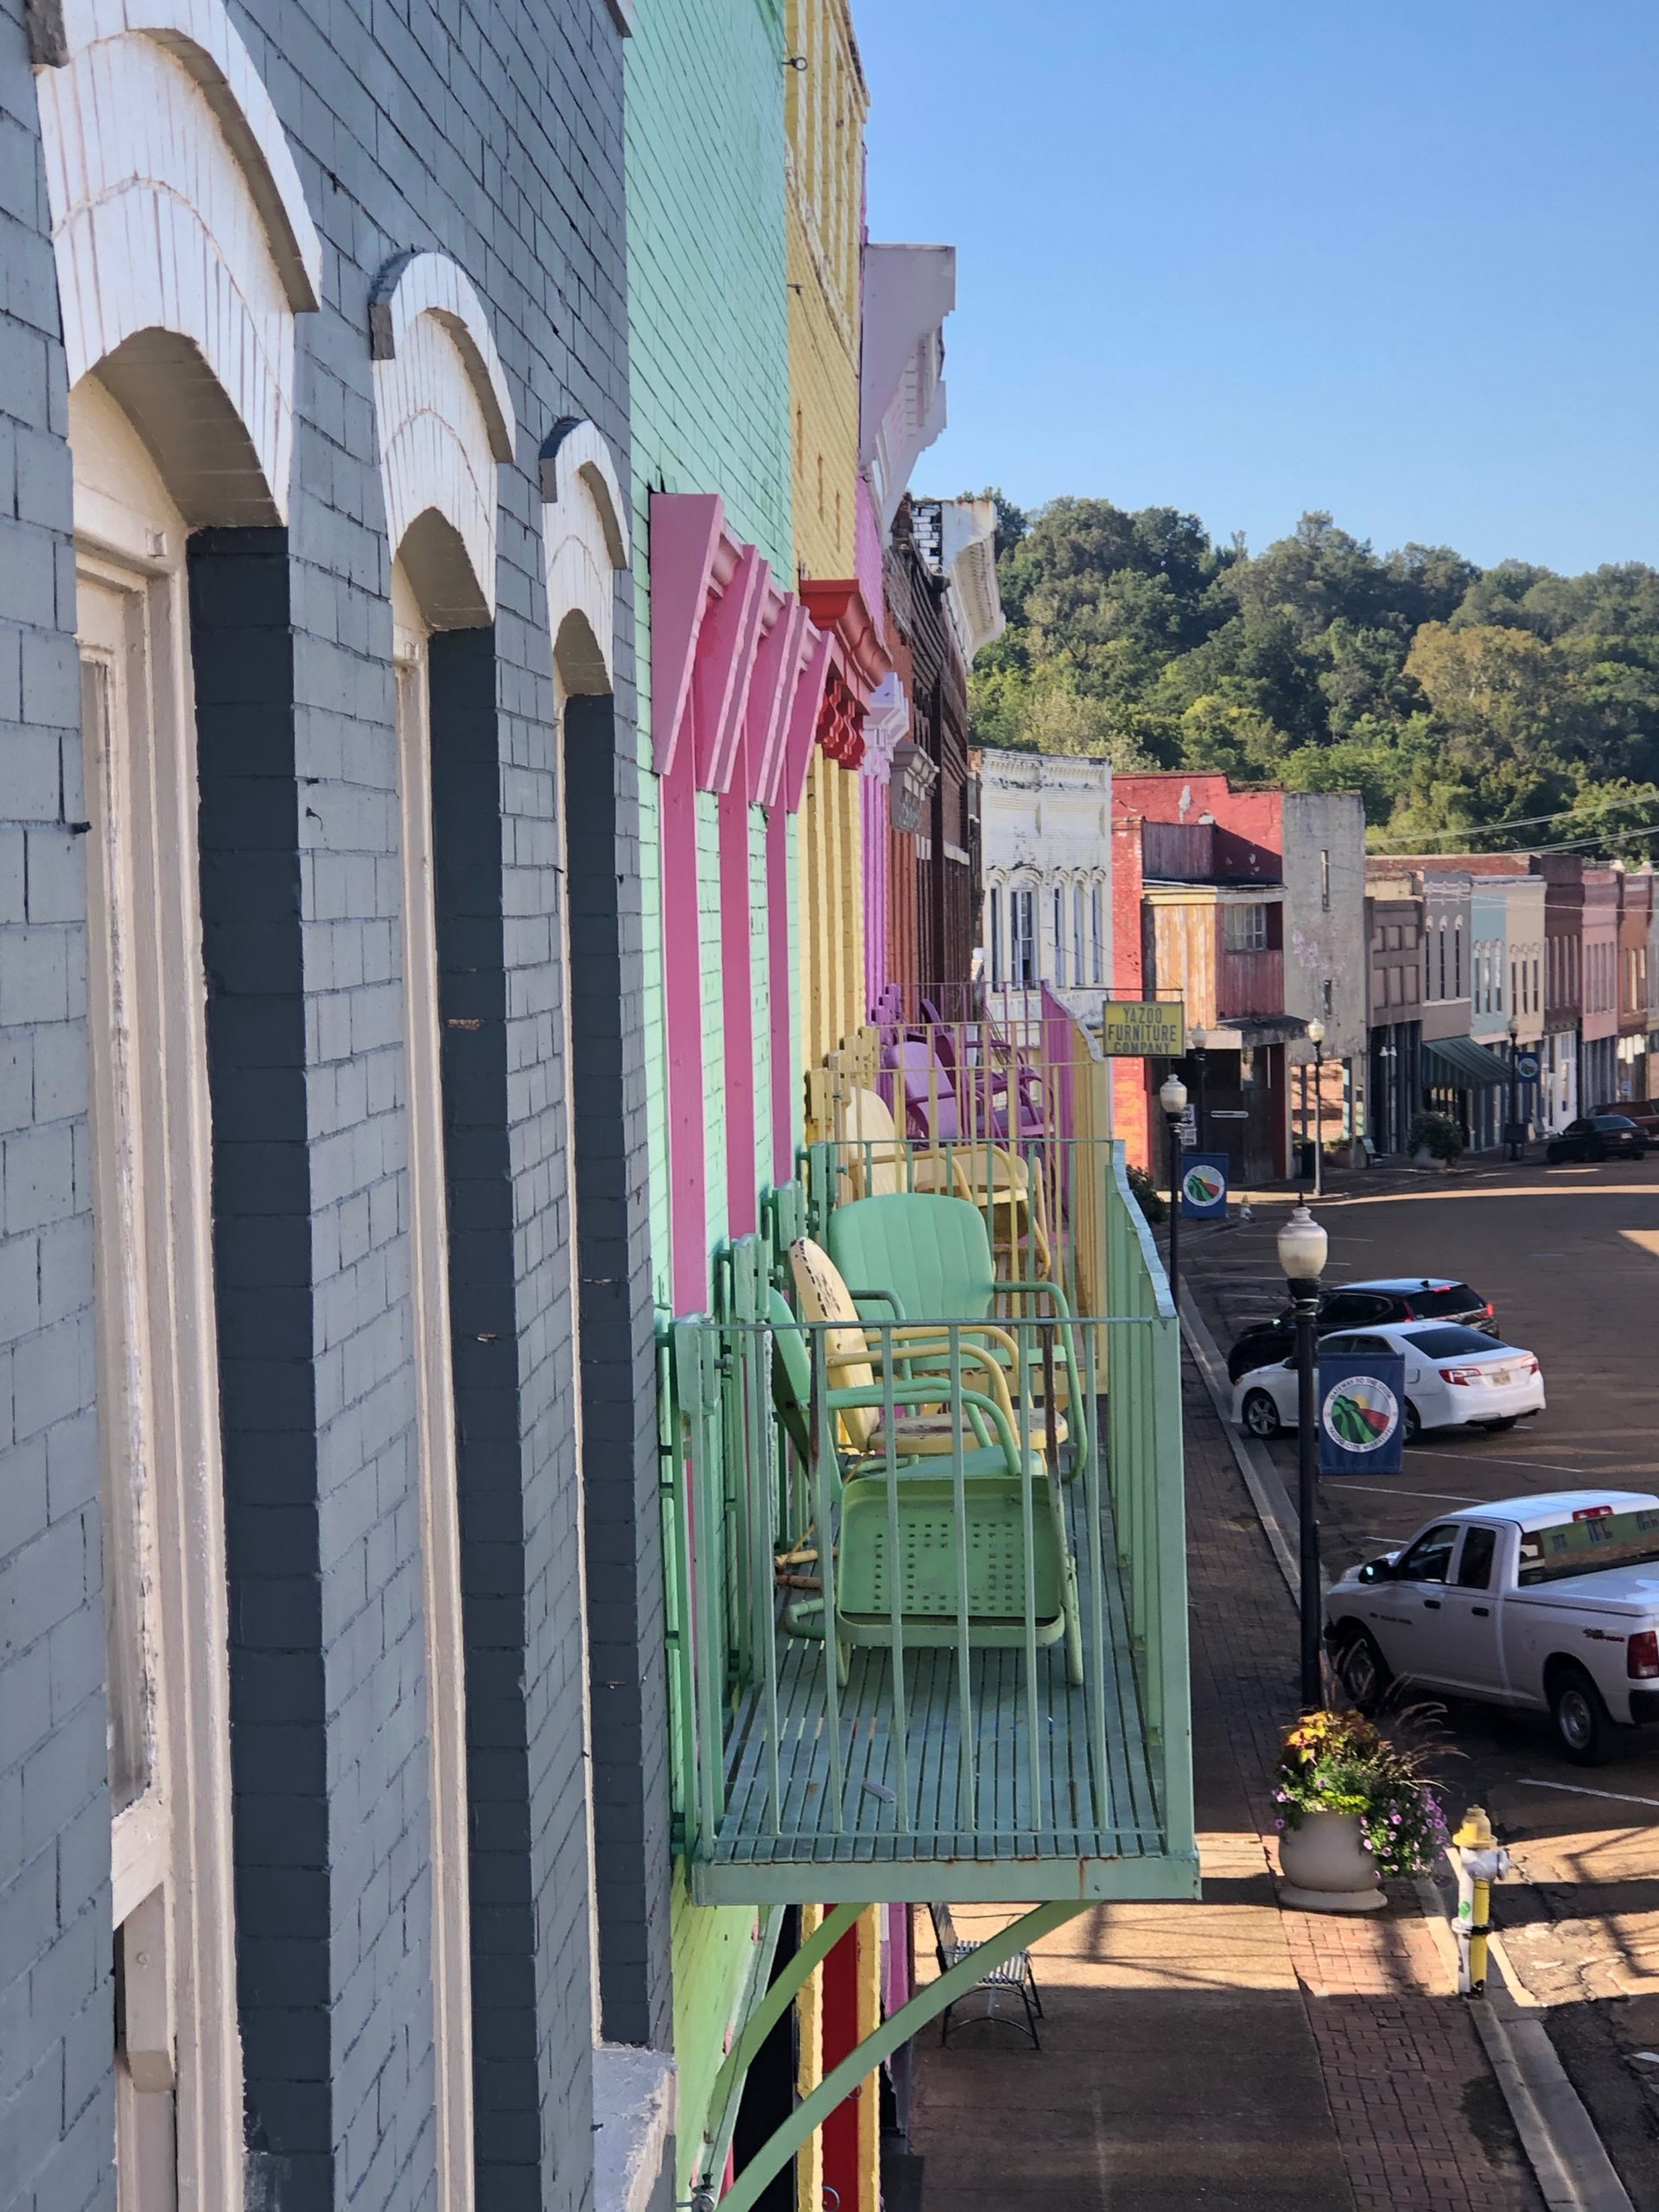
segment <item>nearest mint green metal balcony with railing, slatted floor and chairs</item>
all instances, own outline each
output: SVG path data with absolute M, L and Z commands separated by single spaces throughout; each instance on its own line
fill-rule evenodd
M 900 1192 L 922 1150 L 896 1148 Z M 1024 1214 L 1006 1159 L 969 1194 L 1026 1287 L 978 1314 L 869 1283 L 856 1316 L 792 1310 L 790 1245 L 807 1221 L 834 1245 L 858 1194 L 821 1146 L 721 1254 L 714 1314 L 670 1332 L 675 1812 L 701 1902 L 1197 1893 L 1168 1285 L 1117 1146 L 1015 1155 Z M 1057 1296 L 1009 1234 L 1033 1179 Z M 902 1245 L 909 1217 L 887 1228 Z

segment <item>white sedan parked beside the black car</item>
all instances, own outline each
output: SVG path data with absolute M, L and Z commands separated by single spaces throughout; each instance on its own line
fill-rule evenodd
M 1520 1345 L 1500 1345 L 1451 1321 L 1396 1321 L 1321 1336 L 1318 1356 L 1405 1358 L 1405 1440 L 1425 1429 L 1513 1429 L 1544 1411 L 1544 1371 Z M 1232 1418 L 1245 1436 L 1296 1427 L 1296 1360 L 1254 1367 L 1232 1387 Z

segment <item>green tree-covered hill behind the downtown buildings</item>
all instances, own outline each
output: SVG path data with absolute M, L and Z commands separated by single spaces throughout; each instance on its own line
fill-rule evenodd
M 980 743 L 1360 790 L 1385 852 L 1650 849 L 1659 571 L 1374 553 L 1323 513 L 1252 555 L 1172 507 L 993 498 Z

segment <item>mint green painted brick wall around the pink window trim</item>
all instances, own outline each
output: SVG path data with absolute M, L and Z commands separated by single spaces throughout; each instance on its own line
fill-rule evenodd
M 783 18 L 774 0 L 644 0 L 626 44 L 630 460 L 648 964 L 644 1042 L 650 1068 L 653 1276 L 664 1310 L 670 1281 L 668 1117 L 661 827 L 650 774 L 650 493 L 719 491 L 732 533 L 757 544 L 785 586 L 794 582 L 783 58 Z M 712 799 L 699 801 L 699 865 L 712 1248 L 726 1232 L 719 838 Z M 763 947 L 761 933 L 761 953 Z M 763 991 L 757 991 L 757 1006 L 763 1004 Z M 761 1084 L 765 1051 L 761 1037 Z M 765 1088 L 759 1099 L 765 1119 Z M 754 1953 L 757 1916 L 695 1907 L 684 1880 L 677 1880 L 672 1927 L 677 2194 L 684 2197 L 726 2028 Z

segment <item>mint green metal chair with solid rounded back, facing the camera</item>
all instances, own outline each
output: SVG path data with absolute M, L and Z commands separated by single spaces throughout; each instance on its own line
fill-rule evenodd
M 830 1214 L 830 1256 L 852 1283 L 867 1321 L 891 1316 L 905 1323 L 927 1314 L 929 1321 L 973 1325 L 973 1340 L 993 1349 L 1031 1407 L 1037 1429 L 1031 1442 L 1055 1451 L 1066 1442 L 1064 1407 L 1082 1402 L 1071 1305 L 1060 1283 L 998 1279 L 991 1232 L 978 1206 L 920 1192 L 854 1199 Z M 1046 1305 L 1048 1312 L 1031 1312 L 1029 1318 L 1042 1321 L 1042 1327 L 1022 1329 L 1018 1312 L 995 1312 L 998 1301 Z M 876 1307 L 880 1316 L 872 1312 Z M 1082 1420 L 1068 1475 L 1082 1469 L 1086 1449 L 1088 1422 Z

